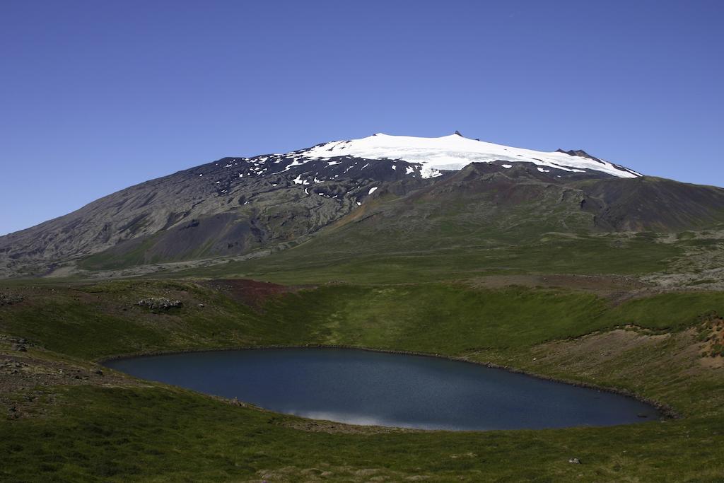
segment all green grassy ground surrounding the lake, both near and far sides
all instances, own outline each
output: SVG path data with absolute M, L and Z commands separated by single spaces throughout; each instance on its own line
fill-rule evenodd
M 0 422 L 7 481 L 716 482 L 724 475 L 724 378 L 721 369 L 702 369 L 692 350 L 702 321 L 724 314 L 724 293 L 616 305 L 575 290 L 325 285 L 249 304 L 193 282 L 9 290 L 25 300 L 0 307 L 0 332 L 28 338 L 35 358 L 92 367 L 88 361 L 120 353 L 235 345 L 418 350 L 623 387 L 686 417 L 545 431 L 327 432 L 164 385 L 56 386 L 42 389 L 35 416 Z M 184 305 L 135 305 L 147 296 Z M 635 344 L 605 338 L 628 324 L 641 327 L 626 332 Z M 581 342 L 589 337 L 600 337 L 595 350 Z M 568 463 L 574 457 L 583 464 Z

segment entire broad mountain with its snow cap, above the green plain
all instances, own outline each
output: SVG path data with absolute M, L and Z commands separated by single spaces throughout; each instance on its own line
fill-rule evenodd
M 341 243 L 335 232 L 352 229 L 366 231 L 360 240 L 375 233 L 400 247 L 434 248 L 471 233 L 510 243 L 543 232 L 670 232 L 724 220 L 720 188 L 641 177 L 584 151 L 376 136 L 224 158 L 121 190 L 1 237 L 0 274 L 43 274 L 67 261 L 112 269 L 235 256 L 311 235 Z M 445 169 L 452 161 L 457 171 Z

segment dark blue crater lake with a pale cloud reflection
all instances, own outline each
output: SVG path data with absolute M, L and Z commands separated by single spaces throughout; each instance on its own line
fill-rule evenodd
M 610 392 L 460 361 L 365 350 L 232 350 L 119 359 L 106 365 L 279 413 L 350 424 L 540 429 L 660 417 L 652 406 Z

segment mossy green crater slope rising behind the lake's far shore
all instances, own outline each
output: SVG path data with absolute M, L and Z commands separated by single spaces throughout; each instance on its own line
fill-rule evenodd
M 135 303 L 171 296 L 182 308 Z M 198 306 L 203 304 L 203 307 Z M 248 306 L 193 282 L 46 288 L 6 309 L 0 329 L 83 358 L 241 345 L 358 345 L 429 353 L 508 349 L 634 324 L 691 327 L 724 314 L 724 293 L 668 293 L 611 304 L 593 293 L 466 284 L 323 285 Z

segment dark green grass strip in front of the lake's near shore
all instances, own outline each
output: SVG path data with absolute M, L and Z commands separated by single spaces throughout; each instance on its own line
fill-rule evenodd
M 166 388 L 76 387 L 44 419 L 0 424 L 8 481 L 717 481 L 716 421 L 517 432 L 328 434 Z M 689 442 L 680 445 L 678 442 Z M 568 459 L 576 457 L 581 465 Z

